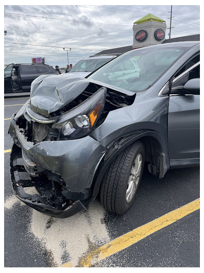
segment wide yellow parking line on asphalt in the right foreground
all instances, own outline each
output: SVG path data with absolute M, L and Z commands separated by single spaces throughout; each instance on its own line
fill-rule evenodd
M 121 251 L 122 249 L 129 247 L 148 235 L 157 232 L 157 230 L 164 228 L 172 224 L 173 222 L 180 220 L 184 216 L 196 211 L 200 208 L 200 198 L 175 209 L 145 225 L 133 229 L 131 232 L 126 233 L 113 241 L 98 247 L 85 255 L 78 266 L 89 267 L 107 257 Z M 65 263 L 62 267 L 72 267 L 71 262 Z

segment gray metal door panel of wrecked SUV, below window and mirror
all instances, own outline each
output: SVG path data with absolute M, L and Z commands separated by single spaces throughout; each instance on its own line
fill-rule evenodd
M 200 95 L 169 98 L 169 159 L 200 157 Z

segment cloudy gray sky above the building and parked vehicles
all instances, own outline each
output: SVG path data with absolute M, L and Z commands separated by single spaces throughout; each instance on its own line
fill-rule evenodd
M 95 2 L 98 5 L 93 6 L 85 5 L 86 1 L 82 3 L 84 5 L 4 6 L 4 29 L 7 31 L 4 64 L 31 63 L 32 57 L 45 57 L 46 64 L 66 67 L 67 51 L 63 48 L 71 48 L 69 64 L 74 65 L 105 49 L 131 46 L 133 23 L 148 13 L 166 20 L 167 28 L 170 25 L 170 5 L 99 5 Z M 199 6 L 173 5 L 172 16 L 172 38 L 200 33 Z

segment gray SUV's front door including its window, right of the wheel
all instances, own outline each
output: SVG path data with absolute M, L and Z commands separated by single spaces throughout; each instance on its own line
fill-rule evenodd
M 175 75 L 169 95 L 168 148 L 171 167 L 199 163 L 200 95 L 184 94 L 182 88 L 193 78 L 199 78 L 198 55 Z

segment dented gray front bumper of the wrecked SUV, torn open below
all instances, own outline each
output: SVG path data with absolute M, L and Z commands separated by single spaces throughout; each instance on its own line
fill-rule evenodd
M 16 125 L 14 115 L 11 118 L 9 134 L 14 139 L 10 161 L 11 180 L 15 195 L 22 202 L 46 215 L 66 218 L 83 211 L 93 200 L 92 179 L 105 154 L 104 146 L 89 136 L 82 139 L 42 141 L 33 144 L 27 141 Z M 23 159 L 23 165 L 17 164 L 18 158 Z M 69 205 L 59 209 L 46 200 L 46 194 L 29 195 L 24 192 L 23 187 L 35 186 L 35 183 L 38 183 L 38 186 L 43 185 L 42 177 L 38 176 L 39 170 L 61 177 L 63 187 L 67 189 L 62 193 L 65 193 L 65 198 L 73 197 Z M 19 172 L 28 172 L 31 179 L 20 179 Z M 37 191 L 39 188 L 37 187 Z

